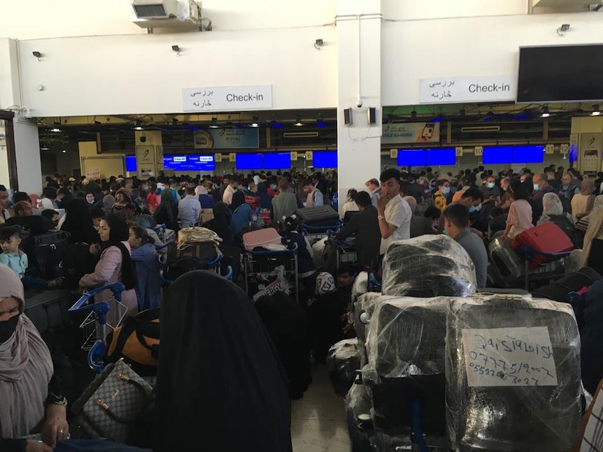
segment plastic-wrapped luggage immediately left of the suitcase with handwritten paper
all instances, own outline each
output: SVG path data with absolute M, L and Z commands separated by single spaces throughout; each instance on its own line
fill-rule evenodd
M 383 297 L 367 333 L 364 384 L 374 398 L 377 430 L 409 432 L 411 402 L 423 407 L 423 432 L 446 435 L 445 370 L 448 298 Z

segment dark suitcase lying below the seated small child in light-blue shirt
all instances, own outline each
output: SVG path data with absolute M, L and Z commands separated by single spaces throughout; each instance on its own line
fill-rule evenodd
M 66 290 L 27 291 L 24 313 L 40 333 L 45 333 L 71 321 L 68 310 L 74 301 Z

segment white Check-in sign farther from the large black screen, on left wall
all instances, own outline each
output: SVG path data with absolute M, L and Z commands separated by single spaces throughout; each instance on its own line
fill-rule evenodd
M 183 88 L 185 112 L 265 110 L 272 108 L 272 85 Z

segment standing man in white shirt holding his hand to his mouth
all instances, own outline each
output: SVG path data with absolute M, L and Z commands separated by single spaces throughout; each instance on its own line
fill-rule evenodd
M 381 247 L 385 254 L 390 243 L 411 238 L 413 212 L 409 203 L 400 196 L 400 172 L 394 168 L 381 173 L 381 198 L 377 201 Z

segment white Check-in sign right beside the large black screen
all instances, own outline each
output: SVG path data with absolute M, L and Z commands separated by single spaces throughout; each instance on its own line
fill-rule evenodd
M 420 103 L 514 101 L 516 75 L 442 77 L 420 80 Z

